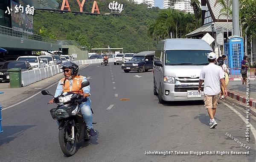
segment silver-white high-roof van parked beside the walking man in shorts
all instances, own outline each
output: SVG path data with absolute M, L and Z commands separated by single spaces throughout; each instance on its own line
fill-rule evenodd
M 154 95 L 165 101 L 204 100 L 204 86 L 198 92 L 199 76 L 208 65 L 210 45 L 198 39 L 166 39 L 154 55 Z

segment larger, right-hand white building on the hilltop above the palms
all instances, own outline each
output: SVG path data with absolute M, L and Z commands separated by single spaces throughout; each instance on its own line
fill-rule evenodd
M 193 8 L 190 6 L 191 0 L 183 0 L 181 2 L 176 3 L 174 6 L 169 6 L 170 0 L 163 0 L 163 8 L 167 9 L 169 7 L 172 7 L 173 9 L 177 9 L 180 11 L 185 11 L 187 13 L 194 13 Z

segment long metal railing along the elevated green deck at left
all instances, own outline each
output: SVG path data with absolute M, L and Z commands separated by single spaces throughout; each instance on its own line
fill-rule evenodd
M 0 26 L 0 34 L 9 35 L 12 37 L 26 38 L 29 40 L 43 41 L 43 42 L 48 42 L 48 43 L 56 43 L 56 41 L 57 41 L 57 40 L 54 40 L 54 39 L 51 39 L 48 37 L 43 37 L 41 35 L 29 34 L 24 31 L 17 31 L 13 28 L 8 28 L 6 26 Z

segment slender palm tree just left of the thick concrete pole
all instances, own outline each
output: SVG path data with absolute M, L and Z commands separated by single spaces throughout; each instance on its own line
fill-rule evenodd
M 214 7 L 217 4 L 221 4 L 223 7 L 220 11 L 221 14 L 218 15 L 218 19 L 221 15 L 224 15 L 227 17 L 227 37 L 228 37 L 228 17 L 232 15 L 232 0 L 216 0 Z

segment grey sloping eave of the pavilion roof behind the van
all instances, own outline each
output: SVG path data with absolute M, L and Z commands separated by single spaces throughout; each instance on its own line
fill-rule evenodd
M 229 32 L 232 31 L 232 22 L 228 23 L 228 28 L 229 28 Z M 226 22 L 215 22 L 214 23 L 214 28 L 213 31 L 216 32 L 217 28 L 222 28 L 223 27 L 223 31 L 227 33 L 227 23 Z M 203 26 L 201 26 L 198 29 L 195 29 L 194 31 L 190 32 L 189 34 L 186 34 L 186 37 L 195 37 L 197 35 L 201 35 L 201 34 L 206 34 L 206 33 L 212 33 L 212 23 L 209 24 L 205 24 Z

